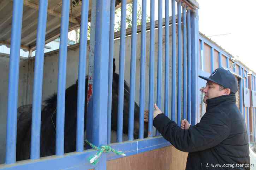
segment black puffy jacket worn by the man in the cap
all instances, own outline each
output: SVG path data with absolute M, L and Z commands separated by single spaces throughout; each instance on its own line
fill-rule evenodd
M 164 114 L 157 115 L 153 124 L 175 148 L 189 152 L 186 170 L 228 169 L 212 168 L 211 164 L 250 164 L 247 128 L 236 106 L 235 94 L 208 99 L 201 121 L 188 130 L 181 129 Z

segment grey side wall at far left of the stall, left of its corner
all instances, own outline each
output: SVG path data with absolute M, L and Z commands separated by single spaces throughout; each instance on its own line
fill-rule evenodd
M 9 55 L 0 53 L 0 163 L 5 161 L 6 119 L 7 119 L 7 97 L 9 81 Z M 23 57 L 19 61 L 19 94 L 18 107 L 26 104 L 28 60 Z

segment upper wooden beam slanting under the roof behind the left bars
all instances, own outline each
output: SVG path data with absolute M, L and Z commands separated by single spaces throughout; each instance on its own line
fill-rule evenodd
M 13 1 L 13 0 L 11 0 L 11 1 Z M 33 9 L 35 9 L 35 10 L 37 10 L 37 11 L 39 10 L 39 5 L 36 5 L 36 4 L 34 4 L 34 3 L 31 3 L 31 2 L 29 2 L 28 0 L 23 0 L 23 4 L 24 4 L 24 6 L 27 6 L 27 7 L 29 7 L 29 8 L 33 8 Z M 61 13 L 56 12 L 56 11 L 53 11 L 52 9 L 49 9 L 49 8 L 48 8 L 47 13 L 48 13 L 49 15 L 53 15 L 53 16 L 55 16 L 55 17 L 61 18 Z M 71 23 L 79 24 L 79 21 L 78 21 L 75 17 L 69 17 L 69 21 L 70 21 Z

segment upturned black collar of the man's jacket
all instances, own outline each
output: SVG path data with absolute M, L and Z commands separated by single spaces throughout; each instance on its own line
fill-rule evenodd
M 228 94 L 228 95 L 223 95 L 223 96 L 219 96 L 219 97 L 214 97 L 212 99 L 207 99 L 206 100 L 206 103 L 207 103 L 206 112 L 209 109 L 218 106 L 222 102 L 236 103 L 236 95 L 235 94 Z

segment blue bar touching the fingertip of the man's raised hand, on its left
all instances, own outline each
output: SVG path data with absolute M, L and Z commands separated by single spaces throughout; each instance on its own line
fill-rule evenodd
M 154 52 L 155 52 L 155 0 L 150 1 L 150 45 L 149 45 L 149 118 L 148 137 L 153 136 L 154 108 Z

